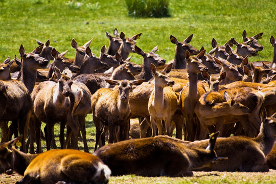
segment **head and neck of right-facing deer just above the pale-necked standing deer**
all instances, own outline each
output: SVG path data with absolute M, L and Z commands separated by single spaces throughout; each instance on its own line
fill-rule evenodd
M 151 52 L 144 52 L 142 49 L 134 46 L 135 52 L 141 56 L 143 56 L 143 69 L 142 72 L 135 76 L 136 79 L 145 79 L 145 81 L 149 81 L 152 78 L 151 74 L 151 66 L 150 64 L 154 64 L 155 66 L 164 65 L 166 63 L 166 60 L 160 57 L 155 52 L 158 51 L 157 46 L 152 49 Z

